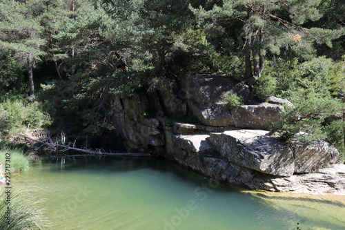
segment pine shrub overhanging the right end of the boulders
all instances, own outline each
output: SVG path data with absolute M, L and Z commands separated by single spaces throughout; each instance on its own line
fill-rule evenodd
M 299 133 L 306 133 L 300 136 L 304 140 L 326 138 L 324 119 L 345 110 L 344 103 L 326 97 L 300 99 L 294 105 L 286 106 L 282 119 L 273 128 L 284 140 L 299 138 Z

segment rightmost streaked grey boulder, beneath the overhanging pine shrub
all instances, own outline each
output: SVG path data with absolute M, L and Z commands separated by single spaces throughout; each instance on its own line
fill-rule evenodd
M 339 159 L 339 151 L 332 144 L 317 140 L 314 142 L 292 142 L 296 173 L 310 173 Z

